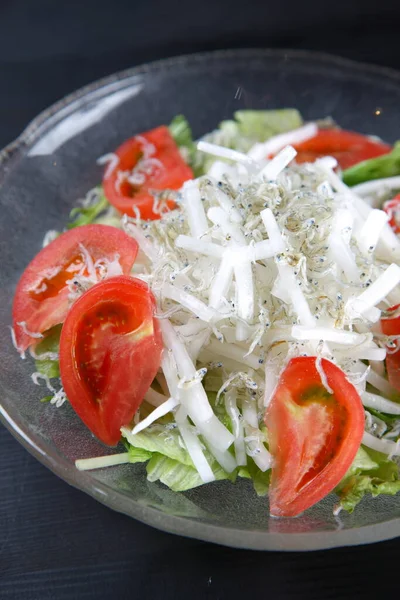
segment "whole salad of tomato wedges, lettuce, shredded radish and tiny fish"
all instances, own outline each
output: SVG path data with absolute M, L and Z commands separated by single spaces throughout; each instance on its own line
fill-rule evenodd
M 247 478 L 274 516 L 400 479 L 400 145 L 238 111 L 183 116 L 99 159 L 45 235 L 12 335 L 43 402 L 176 492 Z

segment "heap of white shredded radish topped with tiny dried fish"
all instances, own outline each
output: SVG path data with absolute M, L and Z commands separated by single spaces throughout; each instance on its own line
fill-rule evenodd
M 395 340 L 379 326 L 382 311 L 400 303 L 400 243 L 387 214 L 371 206 L 388 184 L 350 189 L 331 157 L 296 165 L 290 144 L 315 132 L 308 124 L 247 155 L 199 142 L 217 160 L 184 184 L 179 210 L 159 221 L 122 220 L 139 243 L 133 273 L 156 297 L 166 347 L 159 387 L 145 398 L 154 410 L 122 432 L 129 441 L 170 413 L 203 482 L 215 478 L 204 444 L 227 472 L 246 455 L 262 471 L 271 467 L 263 417 L 292 357 L 315 356 L 328 391 L 320 359 L 331 360 L 366 407 L 400 415 L 384 369 Z M 207 392 L 224 403 L 233 433 Z M 364 444 L 400 455 L 390 439 L 399 434 L 366 412 Z M 118 456 L 77 466 L 128 462 Z

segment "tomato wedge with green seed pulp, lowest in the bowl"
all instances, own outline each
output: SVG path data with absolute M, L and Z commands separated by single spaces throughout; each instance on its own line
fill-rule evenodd
M 364 409 L 336 365 L 321 366 L 333 394 L 321 382 L 315 357 L 293 358 L 282 373 L 265 415 L 274 457 L 270 512 L 293 517 L 329 494 L 360 447 Z

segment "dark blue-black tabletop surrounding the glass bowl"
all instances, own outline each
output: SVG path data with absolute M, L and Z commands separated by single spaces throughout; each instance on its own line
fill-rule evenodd
M 176 54 L 302 48 L 400 68 L 395 5 L 0 0 L 0 146 L 66 93 Z M 0 428 L 1 600 L 388 596 L 398 593 L 399 550 L 394 540 L 309 554 L 256 553 L 161 533 L 67 486 Z

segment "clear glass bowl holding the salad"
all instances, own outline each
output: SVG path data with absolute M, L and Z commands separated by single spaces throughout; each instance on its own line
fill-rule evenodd
M 239 108 L 297 107 L 306 119 L 332 116 L 343 127 L 393 142 L 400 137 L 400 75 L 305 52 L 238 50 L 160 61 L 112 75 L 38 116 L 0 153 L 0 413 L 43 464 L 114 510 L 154 527 L 229 546 L 310 550 L 361 544 L 400 533 L 400 500 L 366 498 L 333 517 L 334 497 L 296 519 L 273 519 L 251 483 L 218 482 L 175 494 L 148 483 L 143 465 L 82 473 L 76 458 L 110 452 L 68 405 L 39 403 L 30 359 L 14 351 L 9 325 L 18 277 L 48 229 L 98 183 L 96 158 L 125 138 L 178 113 L 195 136 Z

